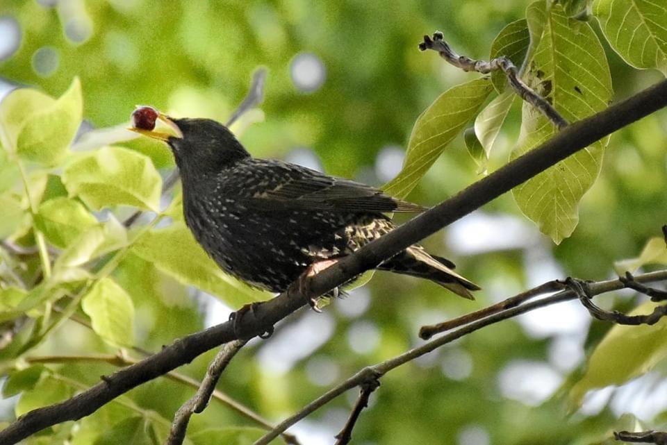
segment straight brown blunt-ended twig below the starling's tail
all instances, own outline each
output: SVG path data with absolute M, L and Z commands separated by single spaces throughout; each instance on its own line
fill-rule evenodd
M 514 308 L 525 301 L 534 299 L 536 296 L 541 294 L 550 294 L 551 292 L 557 292 L 563 290 L 565 285 L 560 280 L 548 281 L 547 283 L 541 284 L 537 287 L 533 287 L 525 292 L 521 292 L 518 295 L 512 296 L 507 300 L 500 301 L 500 303 L 495 303 L 493 305 L 487 306 L 484 309 L 476 310 L 475 312 L 470 312 L 470 314 L 462 315 L 452 320 L 443 321 L 443 323 L 422 326 L 419 330 L 419 337 L 421 339 L 427 340 L 433 337 L 436 334 L 443 333 L 447 330 L 452 330 L 468 324 L 471 321 L 479 320 L 489 315 L 497 314 L 503 310 Z

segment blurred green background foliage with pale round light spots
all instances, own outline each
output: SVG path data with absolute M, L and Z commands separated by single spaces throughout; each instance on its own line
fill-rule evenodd
M 246 94 L 254 69 L 263 65 L 269 69 L 263 120 L 241 137 L 249 151 L 381 185 L 400 171 L 420 112 L 443 90 L 477 76 L 446 65 L 435 53 L 417 51 L 421 36 L 440 29 L 459 53 L 487 58 L 495 35 L 524 18 L 527 4 L 2 0 L 0 80 L 5 92 L 30 86 L 57 97 L 78 76 L 85 119 L 81 133 L 92 128 L 117 132 L 128 125 L 135 104 L 225 121 Z M 590 23 L 600 35 L 595 19 Z M 627 66 L 601 40 L 614 101 L 661 78 L 658 72 Z M 489 170 L 507 162 L 519 126 L 520 112 L 513 109 Z M 459 301 L 420 280 L 377 274 L 324 314 L 299 312 L 271 339 L 251 342 L 223 374 L 219 388 L 278 421 L 366 364 L 420 344 L 416 333 L 422 324 L 481 308 L 545 280 L 613 276 L 614 261 L 638 255 L 667 220 L 662 205 L 666 128 L 663 111 L 611 138 L 602 174 L 580 205 L 579 226 L 559 246 L 520 214 L 509 194 L 430 237 L 425 244 L 431 251 L 446 253 L 484 288 L 477 301 Z M 147 154 L 163 176 L 174 166 L 159 144 L 131 140 L 123 146 Z M 479 177 L 459 137 L 409 199 L 433 205 Z M 49 183 L 46 190 L 63 195 L 62 184 Z M 30 244 L 26 237 L 17 241 Z M 6 252 L 2 261 L 8 264 Z M 24 267 L 38 270 L 38 258 L 26 260 Z M 129 292 L 135 346 L 142 350 L 156 351 L 176 337 L 224 321 L 233 309 L 179 283 L 140 255 L 126 256 L 113 278 Z M 604 304 L 630 308 L 638 299 L 619 293 L 605 296 Z M 85 314 L 77 310 L 73 317 L 85 319 Z M 589 394 L 582 408 L 568 408 L 569 387 L 608 329 L 591 323 L 577 304 L 563 304 L 474 333 L 383 378 L 354 430 L 355 443 L 590 444 L 609 437 L 611 428 L 632 428 L 633 416 L 664 426 L 664 366 L 623 387 Z M 1 404 L 1 418 L 10 421 L 15 408 L 25 412 L 97 383 L 115 369 L 101 360 L 102 354 L 117 351 L 89 328 L 66 319 L 21 358 L 3 355 L 3 373 L 28 369 L 15 382 L 23 382 L 17 383 L 19 390 L 29 390 L 19 399 L 5 388 L 12 397 Z M 53 358 L 67 355 L 78 359 L 57 363 Z M 201 378 L 212 357 L 208 353 L 178 371 Z M 129 430 L 143 432 L 137 440 L 160 442 L 174 411 L 192 391 L 159 378 L 91 417 L 49 428 L 27 443 L 106 444 L 114 436 L 104 431 L 121 437 L 119 432 Z M 349 392 L 291 431 L 304 444 L 331 443 L 354 398 L 356 392 Z M 626 412 L 631 416 L 620 417 Z M 191 439 L 217 443 L 221 433 L 210 428 L 231 426 L 257 425 L 213 401 L 193 417 Z M 244 432 L 254 434 L 227 434 L 245 443 Z

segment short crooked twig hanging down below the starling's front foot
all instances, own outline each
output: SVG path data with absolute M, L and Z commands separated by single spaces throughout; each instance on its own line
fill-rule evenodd
M 188 430 L 190 417 L 192 417 L 192 414 L 199 414 L 206 409 L 222 371 L 227 368 L 227 365 L 231 362 L 234 355 L 236 355 L 246 343 L 247 340 L 234 340 L 233 342 L 222 345 L 222 348 L 217 355 L 215 355 L 211 364 L 208 365 L 206 376 L 204 377 L 204 380 L 201 381 L 201 386 L 197 389 L 195 395 L 186 403 L 183 403 L 181 408 L 174 414 L 174 422 L 172 423 L 169 437 L 167 437 L 166 445 L 183 444 L 183 440 L 186 438 L 186 430 Z

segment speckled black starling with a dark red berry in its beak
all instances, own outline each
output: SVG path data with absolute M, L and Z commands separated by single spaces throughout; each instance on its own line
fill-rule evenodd
M 155 131 L 156 119 L 173 134 Z M 302 274 L 317 273 L 392 230 L 384 212 L 424 210 L 352 180 L 252 158 L 211 119 L 172 119 L 142 107 L 133 125 L 174 153 L 183 213 L 197 242 L 224 271 L 270 292 L 283 292 Z M 414 245 L 377 269 L 428 278 L 472 299 L 470 291 L 479 287 L 453 267 Z

